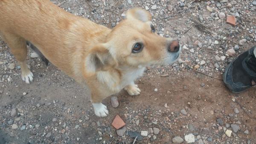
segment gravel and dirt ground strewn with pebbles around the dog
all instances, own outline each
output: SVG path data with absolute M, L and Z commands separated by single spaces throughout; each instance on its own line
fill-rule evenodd
M 256 1 L 52 2 L 109 28 L 118 25 L 127 9 L 142 7 L 153 15 L 160 36 L 180 41 L 181 58 L 148 68 L 137 81 L 142 94 L 114 95 L 116 108 L 107 98 L 110 115 L 98 118 L 88 90 L 39 58 L 28 59 L 35 80 L 24 84 L 20 66 L 0 41 L 1 144 L 132 144 L 136 137 L 136 144 L 256 143 L 256 89 L 234 95 L 219 80 L 230 61 L 256 44 Z M 236 17 L 236 26 L 226 22 L 230 16 Z M 125 122 L 119 130 L 111 125 L 116 115 Z

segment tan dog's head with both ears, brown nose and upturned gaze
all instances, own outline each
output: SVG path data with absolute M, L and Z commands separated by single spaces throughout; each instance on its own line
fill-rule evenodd
M 90 68 L 168 64 L 177 60 L 180 50 L 177 40 L 157 35 L 148 11 L 134 8 L 128 10 L 126 19 L 112 29 L 106 43 L 92 49 Z

